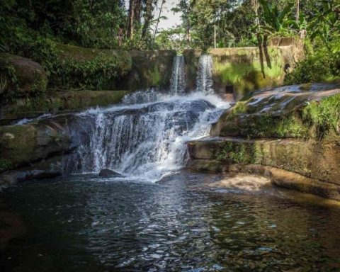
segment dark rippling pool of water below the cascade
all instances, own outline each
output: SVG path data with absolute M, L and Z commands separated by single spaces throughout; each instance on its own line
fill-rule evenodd
M 338 207 L 193 186 L 211 179 L 73 176 L 10 188 L 3 196 L 27 233 L 1 271 L 340 271 Z

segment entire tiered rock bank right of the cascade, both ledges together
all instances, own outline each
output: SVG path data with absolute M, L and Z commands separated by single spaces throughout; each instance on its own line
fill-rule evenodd
M 276 186 L 340 200 L 339 107 L 336 84 L 256 91 L 221 116 L 213 137 L 188 143 L 188 167 L 261 174 Z

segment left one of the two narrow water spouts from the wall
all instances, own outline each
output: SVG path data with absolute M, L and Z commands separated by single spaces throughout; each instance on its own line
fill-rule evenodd
M 174 57 L 171 77 L 171 94 L 184 94 L 186 90 L 185 61 L 183 56 Z

